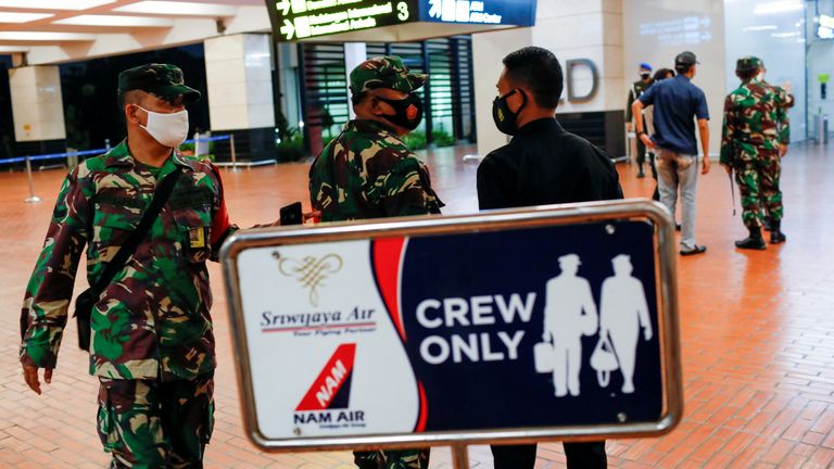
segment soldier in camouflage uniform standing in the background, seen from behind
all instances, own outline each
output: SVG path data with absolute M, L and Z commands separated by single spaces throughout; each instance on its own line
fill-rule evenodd
M 761 61 L 755 56 L 738 59 L 736 75 L 742 85 L 724 101 L 724 126 L 721 140 L 721 164 L 728 173 L 735 170 L 742 194 L 742 219 L 749 236 L 735 245 L 740 249 L 763 250 L 761 208 L 772 219 L 770 242 L 781 243 L 782 192 L 779 189 L 782 145 L 791 132 L 783 113 L 786 93 L 780 96 L 757 75 Z M 780 123 L 782 125 L 780 126 Z

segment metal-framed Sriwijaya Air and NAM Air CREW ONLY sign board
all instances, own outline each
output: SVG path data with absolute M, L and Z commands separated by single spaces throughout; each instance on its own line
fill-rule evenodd
M 655 203 L 243 231 L 222 257 L 263 448 L 645 436 L 681 417 Z

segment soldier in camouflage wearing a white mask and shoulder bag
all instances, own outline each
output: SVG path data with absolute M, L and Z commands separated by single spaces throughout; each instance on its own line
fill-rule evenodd
M 24 378 L 51 381 L 81 252 L 94 284 L 153 199 L 179 178 L 123 270 L 92 308 L 90 373 L 100 380 L 98 432 L 112 468 L 201 468 L 214 423 L 212 293 L 205 262 L 229 225 L 217 169 L 176 148 L 186 104 L 200 93 L 173 65 L 119 75 L 127 139 L 74 168 L 63 182 L 43 251 L 26 289 Z

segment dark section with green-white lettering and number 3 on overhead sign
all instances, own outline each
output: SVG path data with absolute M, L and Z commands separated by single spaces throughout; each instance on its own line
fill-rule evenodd
M 393 26 L 417 17 L 416 0 L 277 0 L 269 14 L 279 40 Z

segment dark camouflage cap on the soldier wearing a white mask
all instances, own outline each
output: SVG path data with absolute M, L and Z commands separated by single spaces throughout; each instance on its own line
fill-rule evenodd
M 170 64 L 146 64 L 122 72 L 118 74 L 118 94 L 130 90 L 147 91 L 165 101 L 182 94 L 185 104 L 200 100 L 200 91 L 187 87 L 182 71 Z

